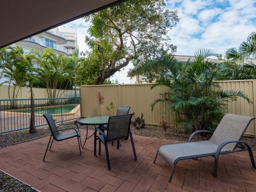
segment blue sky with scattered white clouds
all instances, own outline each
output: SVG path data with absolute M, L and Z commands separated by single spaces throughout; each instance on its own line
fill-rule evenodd
M 236 47 L 256 32 L 255 0 L 170 0 L 166 9 L 177 10 L 179 22 L 168 33 L 171 44 L 177 45 L 177 55 L 193 56 L 200 48 L 225 54 L 228 48 Z M 84 36 L 90 23 L 77 19 L 63 27 L 77 28 L 79 51 L 86 51 Z M 118 83 L 130 83 L 127 72 L 132 64 L 117 72 L 111 79 Z

